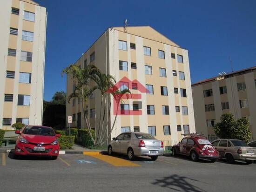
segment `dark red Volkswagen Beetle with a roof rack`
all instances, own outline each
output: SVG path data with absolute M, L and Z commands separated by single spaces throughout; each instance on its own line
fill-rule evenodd
M 187 136 L 185 134 L 181 142 L 172 146 L 172 154 L 173 156 L 177 154 L 187 155 L 193 161 L 207 159 L 215 162 L 221 158 L 219 152 L 216 151 L 208 139 L 196 134 Z

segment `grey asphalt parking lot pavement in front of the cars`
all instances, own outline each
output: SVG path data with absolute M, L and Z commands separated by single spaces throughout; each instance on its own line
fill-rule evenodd
M 186 157 L 161 156 L 156 161 L 97 152 L 59 155 L 57 160 L 13 159 L 0 153 L 1 192 L 176 191 L 252 192 L 256 164 L 224 160 L 193 162 Z

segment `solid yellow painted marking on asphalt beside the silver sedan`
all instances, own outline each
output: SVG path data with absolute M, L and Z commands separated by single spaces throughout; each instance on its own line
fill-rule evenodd
M 125 159 L 121 159 L 121 158 L 117 158 L 109 155 L 102 155 L 100 152 L 83 152 L 83 154 L 88 155 L 90 157 L 94 157 L 96 159 L 100 159 L 113 166 L 133 166 L 133 167 L 141 166 Z

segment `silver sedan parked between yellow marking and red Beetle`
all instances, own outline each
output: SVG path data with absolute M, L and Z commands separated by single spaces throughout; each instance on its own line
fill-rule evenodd
M 109 155 L 113 152 L 127 154 L 130 160 L 135 156 L 149 156 L 156 160 L 163 151 L 163 142 L 145 132 L 123 132 L 108 145 Z

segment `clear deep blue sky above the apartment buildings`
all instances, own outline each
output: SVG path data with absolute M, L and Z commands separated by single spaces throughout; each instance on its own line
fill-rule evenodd
M 152 26 L 189 50 L 191 81 L 256 66 L 256 0 L 35 0 L 47 7 L 44 99 L 107 27 Z

